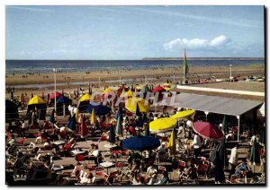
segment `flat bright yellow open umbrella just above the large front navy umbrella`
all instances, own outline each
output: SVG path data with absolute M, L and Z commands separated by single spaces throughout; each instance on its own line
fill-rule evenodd
M 160 133 L 174 129 L 177 125 L 177 120 L 171 117 L 158 118 L 149 124 L 151 132 Z

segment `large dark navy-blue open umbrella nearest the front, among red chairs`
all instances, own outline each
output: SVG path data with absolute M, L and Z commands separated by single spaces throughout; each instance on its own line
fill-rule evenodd
M 133 136 L 122 141 L 122 148 L 133 151 L 153 150 L 158 146 L 159 139 L 150 136 Z

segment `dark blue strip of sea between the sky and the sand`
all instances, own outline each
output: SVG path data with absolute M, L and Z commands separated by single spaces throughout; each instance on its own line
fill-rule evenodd
M 187 60 L 189 66 L 265 65 L 264 58 Z M 5 73 L 94 72 L 182 66 L 183 60 L 6 60 Z

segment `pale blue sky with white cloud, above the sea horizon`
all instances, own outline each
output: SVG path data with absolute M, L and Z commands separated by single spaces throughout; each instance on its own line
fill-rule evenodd
M 6 6 L 6 59 L 264 56 L 263 6 Z

